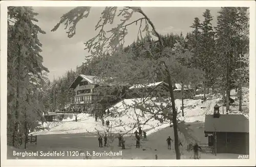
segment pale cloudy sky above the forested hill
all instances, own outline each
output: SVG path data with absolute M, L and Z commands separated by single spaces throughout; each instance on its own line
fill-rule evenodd
M 44 66 L 49 69 L 49 79 L 64 75 L 68 70 L 80 66 L 86 55 L 90 55 L 88 50 L 84 50 L 84 42 L 93 38 L 97 31 L 95 25 L 104 8 L 93 7 L 88 18 L 81 20 L 76 27 L 76 35 L 68 38 L 64 25 L 60 26 L 55 32 L 51 32 L 53 27 L 59 22 L 60 17 L 69 12 L 73 7 L 34 7 L 34 12 L 38 13 L 37 25 L 41 27 L 46 34 L 38 35 L 42 43 L 41 55 L 44 58 Z M 142 10 L 154 23 L 159 34 L 178 33 L 185 35 L 191 32 L 191 26 L 194 18 L 198 17 L 203 21 L 203 12 L 209 9 L 214 16 L 212 25 L 216 26 L 217 15 L 220 8 L 204 7 L 143 7 Z M 135 14 L 131 21 L 139 17 Z M 116 18 L 115 23 L 118 23 Z M 111 26 L 107 27 L 109 30 Z M 139 25 L 132 25 L 128 28 L 128 35 L 125 38 L 125 44 L 131 44 L 137 39 Z

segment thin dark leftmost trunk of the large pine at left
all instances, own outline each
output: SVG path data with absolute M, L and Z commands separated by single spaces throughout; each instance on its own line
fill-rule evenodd
M 19 109 L 19 81 L 20 81 L 20 46 L 18 46 L 18 62 L 17 62 L 17 67 L 16 67 L 16 72 L 17 72 L 17 87 L 16 87 L 16 108 L 15 108 L 15 126 L 13 130 L 13 136 L 12 136 L 12 146 L 15 147 L 15 139 L 16 137 L 18 138 L 18 109 Z

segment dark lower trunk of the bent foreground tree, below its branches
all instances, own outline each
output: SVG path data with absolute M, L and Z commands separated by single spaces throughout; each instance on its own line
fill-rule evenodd
M 179 150 L 179 143 L 178 143 L 179 136 L 178 136 L 178 124 L 177 124 L 177 110 L 175 108 L 173 84 L 172 84 L 172 80 L 170 78 L 169 73 L 168 73 L 167 79 L 168 79 L 168 85 L 169 85 L 170 100 L 172 102 L 172 110 L 173 110 L 174 148 L 176 153 L 176 159 L 180 159 L 180 150 Z

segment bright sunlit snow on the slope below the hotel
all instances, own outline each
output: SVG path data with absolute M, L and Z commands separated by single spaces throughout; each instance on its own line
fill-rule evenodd
M 243 113 L 246 117 L 248 117 L 248 101 L 249 101 L 249 89 L 243 88 Z M 234 90 L 231 91 L 231 98 L 235 99 L 237 92 Z M 199 95 L 200 96 L 200 95 Z M 216 104 L 220 105 L 220 113 L 222 114 L 222 104 L 221 104 L 221 95 L 213 95 L 208 94 L 207 100 L 202 102 L 202 100 L 193 100 L 193 99 L 184 99 L 184 117 L 181 116 L 181 100 L 175 100 L 175 104 L 178 108 L 179 119 L 184 120 L 186 123 L 191 122 L 204 122 L 205 115 L 213 113 L 213 108 Z M 125 99 L 115 106 L 115 110 L 117 113 L 125 113 L 122 114 L 120 117 L 111 118 L 106 117 L 104 120 L 109 120 L 112 128 L 104 125 L 102 126 L 102 122 L 98 120 L 95 122 L 95 119 L 91 117 L 89 114 L 78 114 L 77 119 L 78 121 L 75 122 L 75 117 L 67 118 L 61 122 L 48 122 L 45 123 L 43 126 L 48 127 L 50 130 L 42 130 L 38 132 L 33 132 L 34 135 L 39 134 L 70 134 L 70 133 L 87 133 L 87 134 L 96 134 L 95 132 L 98 131 L 100 134 L 104 133 L 123 133 L 129 131 L 127 133 L 130 135 L 135 131 L 132 130 L 135 126 L 137 120 L 140 123 L 144 123 L 148 118 L 152 117 L 151 114 L 144 114 L 140 109 L 135 109 L 131 107 L 135 105 L 136 102 L 141 101 L 141 99 Z M 235 103 L 230 105 L 230 109 L 232 113 L 230 114 L 241 114 L 238 112 L 238 104 L 239 100 L 235 100 Z M 128 107 L 130 106 L 130 108 Z M 128 108 L 128 109 L 127 109 Z M 224 107 L 224 114 L 226 113 L 226 108 Z M 150 121 L 146 122 L 142 129 L 147 131 L 147 135 L 158 131 L 159 129 L 168 127 L 169 123 L 165 122 L 161 124 L 158 120 L 151 119 Z M 137 129 L 137 128 L 136 128 Z

